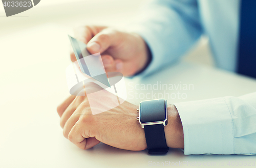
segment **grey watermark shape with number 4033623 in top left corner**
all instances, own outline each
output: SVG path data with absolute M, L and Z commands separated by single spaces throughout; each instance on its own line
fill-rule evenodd
M 36 6 L 40 0 L 2 0 L 6 16 L 16 15 Z

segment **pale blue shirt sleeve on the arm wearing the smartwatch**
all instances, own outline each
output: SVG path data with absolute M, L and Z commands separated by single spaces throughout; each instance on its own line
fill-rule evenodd
M 256 92 L 176 103 L 184 154 L 256 154 Z

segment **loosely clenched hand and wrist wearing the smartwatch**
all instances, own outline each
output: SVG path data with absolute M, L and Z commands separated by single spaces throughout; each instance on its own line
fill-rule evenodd
M 105 91 L 101 97 L 111 102 L 113 94 Z M 137 121 L 138 108 L 125 101 L 109 111 L 92 115 L 88 97 L 72 95 L 57 107 L 57 111 L 63 135 L 81 149 L 89 149 L 102 142 L 120 149 L 139 151 L 146 149 L 146 141 L 144 130 Z M 182 124 L 174 105 L 168 105 L 168 121 L 164 128 L 167 146 L 184 148 Z

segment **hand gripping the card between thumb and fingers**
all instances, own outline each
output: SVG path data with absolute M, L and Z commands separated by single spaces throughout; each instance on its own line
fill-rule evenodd
M 100 52 L 106 72 L 117 71 L 132 76 L 147 64 L 147 46 L 135 33 L 106 26 L 82 26 L 75 30 L 75 38 L 86 43 L 90 53 Z M 73 52 L 71 61 L 76 61 Z

